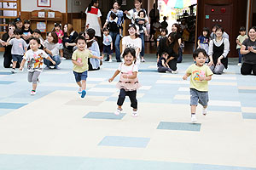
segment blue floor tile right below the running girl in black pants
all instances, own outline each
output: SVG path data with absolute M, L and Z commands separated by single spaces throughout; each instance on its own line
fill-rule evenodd
M 116 116 L 113 114 L 113 112 L 89 112 L 83 118 L 121 120 L 124 116 L 125 116 L 125 113 L 120 113 L 119 116 Z

